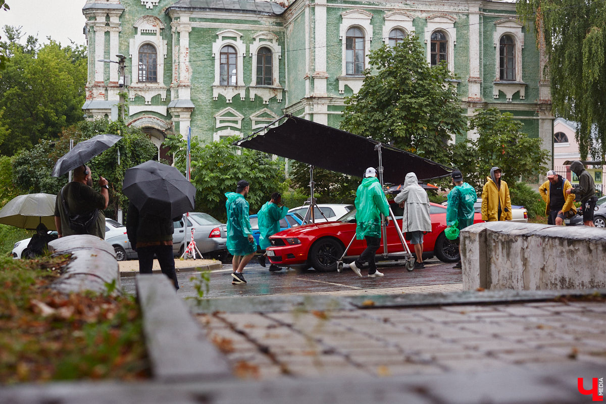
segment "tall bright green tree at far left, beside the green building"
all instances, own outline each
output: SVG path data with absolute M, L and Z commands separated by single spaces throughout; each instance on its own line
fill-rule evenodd
M 5 33 L 0 46 L 9 59 L 0 71 L 0 153 L 10 156 L 82 121 L 87 58 L 78 45 L 51 40 L 39 46 L 32 36 L 22 45 L 20 28 L 7 26 Z

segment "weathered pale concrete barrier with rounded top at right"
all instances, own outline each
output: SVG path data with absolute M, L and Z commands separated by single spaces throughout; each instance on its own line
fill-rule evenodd
M 461 231 L 463 288 L 606 287 L 606 230 L 487 222 Z

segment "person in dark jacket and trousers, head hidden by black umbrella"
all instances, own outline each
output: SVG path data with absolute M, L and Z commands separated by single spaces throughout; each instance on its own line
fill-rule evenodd
M 167 219 L 145 214 L 132 203 L 128 205 L 126 217 L 128 241 L 139 256 L 139 273 L 151 274 L 156 256 L 162 273 L 173 281 L 176 289 L 179 289 L 179 282 L 173 256 L 173 221 L 179 219 L 180 217 Z

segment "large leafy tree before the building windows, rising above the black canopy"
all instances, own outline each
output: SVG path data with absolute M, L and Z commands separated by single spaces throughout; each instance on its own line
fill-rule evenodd
M 341 129 L 447 163 L 448 140 L 467 124 L 447 65 L 428 65 L 415 35 L 369 59 L 376 73 L 365 70 L 362 88 L 345 99 Z

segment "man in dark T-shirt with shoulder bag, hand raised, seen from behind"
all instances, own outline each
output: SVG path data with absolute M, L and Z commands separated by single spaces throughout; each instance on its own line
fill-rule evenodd
M 55 225 L 59 237 L 91 234 L 105 239 L 105 215 L 109 203 L 107 179 L 99 177 L 101 192 L 93 190 L 93 177 L 87 165 L 73 170 L 74 179 L 57 195 Z

